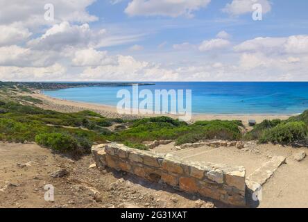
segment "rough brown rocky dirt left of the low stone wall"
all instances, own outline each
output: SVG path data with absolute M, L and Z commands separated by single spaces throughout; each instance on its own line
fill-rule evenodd
M 89 168 L 92 155 L 70 160 L 36 144 L 0 142 L 1 207 L 214 207 L 205 198 L 116 171 Z M 51 178 L 58 169 L 68 176 Z M 55 200 L 44 200 L 53 185 Z M 220 206 L 219 203 L 216 206 Z

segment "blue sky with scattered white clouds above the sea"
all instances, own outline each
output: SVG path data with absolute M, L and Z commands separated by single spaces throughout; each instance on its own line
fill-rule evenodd
M 308 80 L 307 10 L 307 0 L 0 0 L 0 80 Z

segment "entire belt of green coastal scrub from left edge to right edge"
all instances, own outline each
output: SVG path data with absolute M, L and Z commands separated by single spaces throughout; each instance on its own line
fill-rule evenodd
M 27 83 L 30 84 L 30 83 Z M 257 140 L 259 143 L 293 145 L 306 142 L 308 110 L 285 121 L 265 120 L 243 133 L 241 121 L 196 121 L 185 123 L 170 117 L 112 119 L 92 111 L 55 112 L 37 107 L 43 101 L 22 92 L 28 85 L 0 82 L 0 140 L 36 142 L 60 153 L 83 155 L 92 144 L 107 141 L 146 150 L 145 142 L 173 139 L 176 145 L 205 139 Z

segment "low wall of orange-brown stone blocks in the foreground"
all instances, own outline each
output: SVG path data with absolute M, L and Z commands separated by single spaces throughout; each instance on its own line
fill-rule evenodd
M 99 169 L 110 167 L 230 205 L 246 205 L 243 167 L 183 161 L 169 154 L 139 151 L 121 144 L 93 146 L 92 154 Z

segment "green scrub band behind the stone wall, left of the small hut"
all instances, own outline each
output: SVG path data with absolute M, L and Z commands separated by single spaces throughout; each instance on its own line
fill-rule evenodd
M 110 130 L 114 123 L 128 129 Z M 237 121 L 198 121 L 187 124 L 169 117 L 138 120 L 108 119 L 92 111 L 61 113 L 12 101 L 0 103 L 0 139 L 37 142 L 62 153 L 88 153 L 94 142 L 107 140 L 146 149 L 145 141 L 175 139 L 176 144 L 200 139 L 240 139 Z

